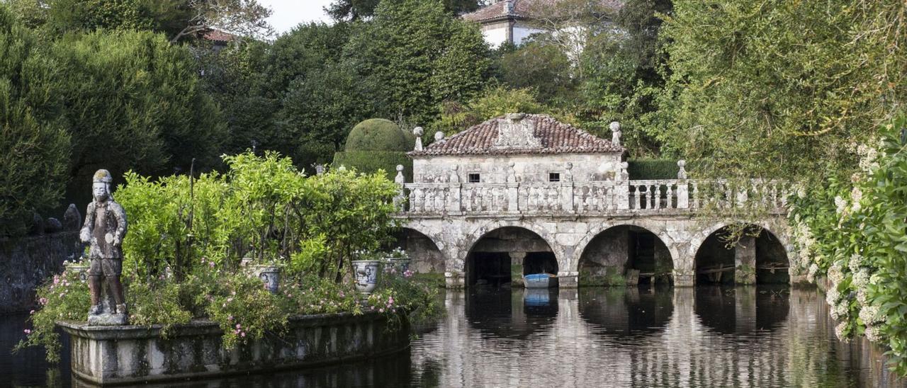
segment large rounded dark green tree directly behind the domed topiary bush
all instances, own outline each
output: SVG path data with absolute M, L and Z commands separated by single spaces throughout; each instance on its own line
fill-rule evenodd
M 483 88 L 490 59 L 482 34 L 440 0 L 385 1 L 350 37 L 345 52 L 385 117 L 431 121 L 445 100 Z

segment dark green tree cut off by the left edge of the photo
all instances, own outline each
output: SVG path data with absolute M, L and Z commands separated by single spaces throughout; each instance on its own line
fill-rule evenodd
M 70 137 L 54 59 L 0 4 L 0 236 L 18 235 L 33 211 L 63 194 Z

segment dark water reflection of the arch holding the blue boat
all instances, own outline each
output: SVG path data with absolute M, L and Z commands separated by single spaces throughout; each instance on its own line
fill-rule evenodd
M 530 291 L 532 294 L 524 294 Z M 557 288 L 536 291 L 475 287 L 467 292 L 466 319 L 483 335 L 525 338 L 548 330 L 558 315 Z

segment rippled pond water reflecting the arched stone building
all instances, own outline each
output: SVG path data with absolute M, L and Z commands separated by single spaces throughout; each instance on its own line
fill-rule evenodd
M 405 354 L 161 386 L 907 386 L 873 346 L 835 339 L 813 289 L 489 288 L 447 292 L 444 304 L 447 315 L 420 328 Z M 23 320 L 0 317 L 0 351 L 21 337 Z M 0 354 L 0 385 L 80 385 L 41 356 Z

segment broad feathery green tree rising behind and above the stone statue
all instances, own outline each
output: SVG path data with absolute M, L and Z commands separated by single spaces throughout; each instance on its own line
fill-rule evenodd
M 54 43 L 68 130 L 72 177 L 106 168 L 166 173 L 219 164 L 223 125 L 200 87 L 188 49 L 150 32 L 98 31 Z

